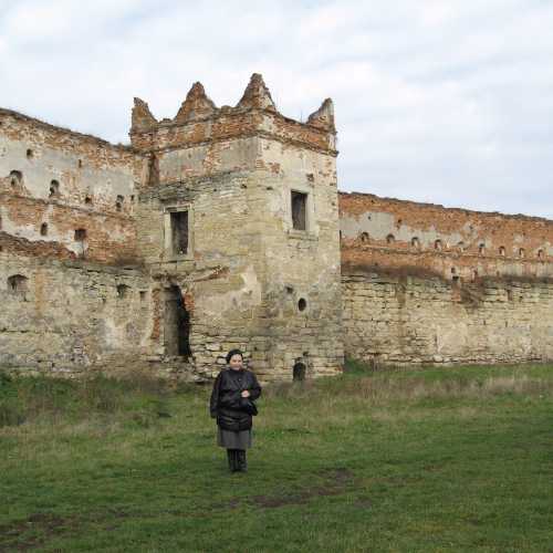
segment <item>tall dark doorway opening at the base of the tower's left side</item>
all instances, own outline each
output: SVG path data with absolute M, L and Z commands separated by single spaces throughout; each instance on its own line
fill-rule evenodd
M 171 356 L 189 357 L 190 314 L 186 311 L 179 286 L 166 290 L 165 296 L 165 352 Z

